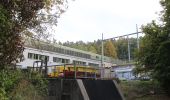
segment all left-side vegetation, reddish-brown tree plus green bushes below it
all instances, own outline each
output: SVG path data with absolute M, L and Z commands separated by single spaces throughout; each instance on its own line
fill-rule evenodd
M 28 74 L 15 69 L 15 64 L 23 60 L 24 37 L 46 38 L 46 24 L 56 25 L 66 3 L 66 0 L 0 0 L 1 100 L 38 99 L 47 94 L 47 81 L 41 75 L 31 73 L 34 79 L 29 79 Z M 57 8 L 55 16 L 49 15 L 52 7 Z

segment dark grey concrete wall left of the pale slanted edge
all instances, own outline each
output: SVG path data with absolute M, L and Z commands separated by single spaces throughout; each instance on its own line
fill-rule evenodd
M 84 100 L 74 79 L 50 79 L 48 100 Z

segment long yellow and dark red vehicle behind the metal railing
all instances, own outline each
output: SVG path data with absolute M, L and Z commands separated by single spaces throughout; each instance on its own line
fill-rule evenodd
M 49 78 L 100 78 L 100 70 L 91 66 L 73 64 L 53 65 L 48 66 L 47 70 Z

